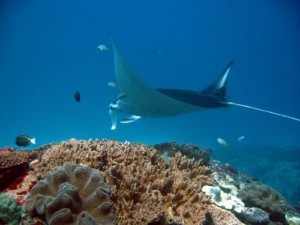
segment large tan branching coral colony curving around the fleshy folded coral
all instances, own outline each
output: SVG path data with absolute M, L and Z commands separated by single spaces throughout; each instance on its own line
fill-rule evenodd
M 211 185 L 210 170 L 180 153 L 170 165 L 151 147 L 117 141 L 70 140 L 42 149 L 35 172 L 43 177 L 75 162 L 103 171 L 118 224 L 222 224 L 225 215 L 201 192 Z M 232 224 L 241 224 L 231 213 Z M 208 219 L 209 218 L 209 219 Z

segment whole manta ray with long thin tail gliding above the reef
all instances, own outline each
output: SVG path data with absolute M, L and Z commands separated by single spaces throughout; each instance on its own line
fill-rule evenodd
M 300 119 L 271 112 L 256 107 L 229 102 L 226 95 L 226 85 L 233 66 L 231 61 L 222 73 L 204 90 L 192 91 L 182 89 L 155 89 L 146 84 L 142 78 L 129 66 L 114 41 L 114 70 L 117 87 L 120 91 L 117 99 L 109 105 L 111 129 L 115 130 L 119 114 L 129 114 L 121 123 L 131 123 L 142 117 L 172 117 L 205 109 L 217 109 L 229 106 L 240 106 L 261 112 L 285 117 L 300 122 Z

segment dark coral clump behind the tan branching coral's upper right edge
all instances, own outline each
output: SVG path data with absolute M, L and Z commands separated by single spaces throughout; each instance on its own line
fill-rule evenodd
M 179 145 L 175 141 L 156 144 L 153 146 L 159 154 L 168 153 L 169 156 L 174 156 L 176 152 L 181 152 L 189 159 L 196 159 L 202 161 L 204 165 L 208 165 L 211 158 L 211 150 L 208 148 L 201 149 L 194 144 Z

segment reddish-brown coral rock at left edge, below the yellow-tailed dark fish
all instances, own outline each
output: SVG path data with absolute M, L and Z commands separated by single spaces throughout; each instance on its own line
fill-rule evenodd
M 0 191 L 8 188 L 9 185 L 16 186 L 18 184 L 16 179 L 25 176 L 30 159 L 31 153 L 29 151 L 16 151 L 11 148 L 0 149 Z

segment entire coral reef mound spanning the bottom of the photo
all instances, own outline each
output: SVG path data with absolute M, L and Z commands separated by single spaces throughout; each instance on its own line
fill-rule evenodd
M 10 199 L 3 205 L 0 196 L 0 224 L 299 224 L 278 192 L 210 153 L 175 142 L 76 139 L 0 149 L 0 186 Z

